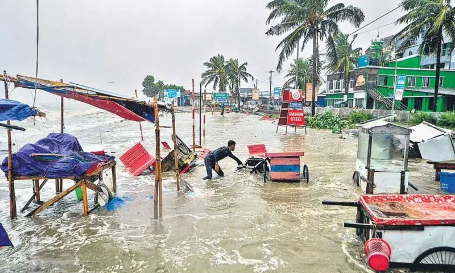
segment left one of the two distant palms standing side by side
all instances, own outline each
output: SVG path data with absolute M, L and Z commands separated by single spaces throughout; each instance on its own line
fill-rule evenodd
M 224 61 L 224 56 L 218 54 L 210 58 L 210 61 L 203 64 L 208 69 L 201 74 L 202 84 L 207 87 L 213 83 L 213 90 L 217 89 L 220 92 L 226 92 L 226 86 L 228 85 L 229 77 L 229 62 Z

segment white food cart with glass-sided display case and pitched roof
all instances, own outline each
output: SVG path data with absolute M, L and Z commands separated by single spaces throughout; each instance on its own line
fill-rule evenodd
M 361 127 L 352 176 L 354 183 L 367 194 L 405 194 L 408 186 L 417 190 L 409 183 L 408 151 L 412 130 L 380 118 L 358 126 Z

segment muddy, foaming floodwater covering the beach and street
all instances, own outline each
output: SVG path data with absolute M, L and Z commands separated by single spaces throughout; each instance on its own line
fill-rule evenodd
M 191 114 L 179 113 L 176 119 L 177 135 L 190 145 Z M 160 124 L 170 126 L 171 116 L 162 116 Z M 196 128 L 198 124 L 197 115 Z M 31 120 L 20 125 L 27 131 L 13 134 L 13 151 L 57 132 L 59 120 L 49 117 L 37 119 L 35 126 Z M 305 152 L 301 164 L 308 165 L 309 183 L 263 183 L 260 175 L 236 171 L 236 162 L 226 158 L 220 162 L 225 177 L 214 173 L 214 179 L 203 181 L 202 166 L 183 175 L 194 186 L 195 196 L 177 193 L 174 173 L 164 173 L 163 217 L 154 220 L 154 177 L 132 177 L 118 160 L 123 207 L 113 211 L 101 207 L 83 217 L 82 203 L 73 192 L 33 218 L 24 213 L 11 221 L 8 184 L 2 175 L 0 222 L 15 247 L 0 249 L 0 272 L 372 272 L 354 229 L 343 227 L 343 222 L 355 221 L 356 210 L 321 205 L 325 199 L 358 199 L 359 188 L 352 182 L 357 138 L 312 129 L 306 135 L 290 130 L 285 136 L 283 127 L 275 134 L 272 121 L 237 113 L 207 113 L 206 127 L 203 147 L 214 149 L 232 139 L 237 142 L 234 154 L 242 161 L 248 157 L 249 144 L 263 143 L 269 152 Z M 142 123 L 142 128 L 143 145 L 154 155 L 154 127 Z M 140 140 L 138 123 L 121 122 L 101 111 L 68 114 L 66 131 L 85 151 L 102 148 L 117 159 Z M 161 132 L 162 141 L 171 144 L 172 129 Z M 5 136 L 1 137 L 6 148 Z M 410 181 L 420 193 L 440 193 L 432 166 L 424 162 L 410 162 Z M 65 188 L 71 185 L 64 183 Z M 32 194 L 32 183 L 18 181 L 15 187 L 23 205 Z M 48 182 L 41 199 L 53 194 L 54 183 Z M 93 196 L 89 191 L 89 207 Z

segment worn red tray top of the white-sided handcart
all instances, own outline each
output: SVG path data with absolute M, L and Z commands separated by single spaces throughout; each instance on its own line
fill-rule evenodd
M 455 195 L 363 195 L 360 203 L 379 225 L 444 225 L 455 223 Z

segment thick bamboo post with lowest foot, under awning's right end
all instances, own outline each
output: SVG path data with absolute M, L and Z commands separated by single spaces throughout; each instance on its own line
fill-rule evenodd
M 157 103 L 156 97 L 153 99 L 153 105 L 155 107 L 155 141 L 156 141 L 156 155 L 155 156 L 157 158 L 157 162 L 155 163 L 155 192 L 153 195 L 153 204 L 154 204 L 154 216 L 155 216 L 155 219 L 158 219 L 158 201 L 159 201 L 159 205 L 161 207 L 163 205 L 163 200 L 162 200 L 162 187 L 161 187 L 160 121 L 159 121 L 158 103 Z

